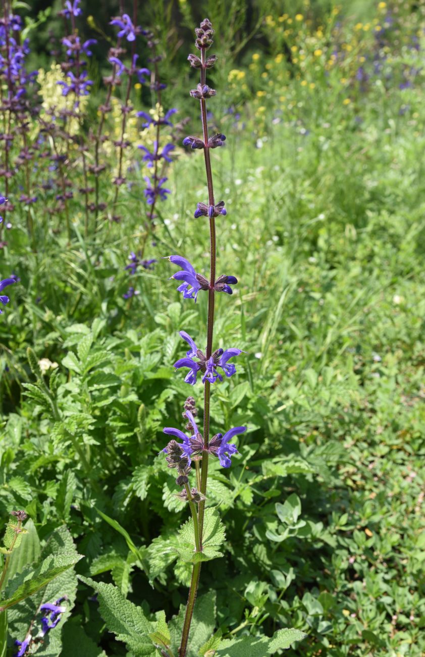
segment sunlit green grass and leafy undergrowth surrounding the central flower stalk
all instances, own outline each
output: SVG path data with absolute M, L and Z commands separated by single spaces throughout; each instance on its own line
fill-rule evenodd
M 421 14 L 378 5 L 363 22 L 323 10 L 323 26 L 266 14 L 268 46 L 250 44 L 217 74 L 227 91 L 213 120 L 227 146 L 215 184 L 228 209 L 218 260 L 239 284 L 235 304 L 218 298 L 216 334 L 246 353 L 214 391 L 213 431 L 248 430 L 229 471 L 211 464 L 207 506 L 226 539 L 203 566 L 193 655 L 218 628 L 253 637 L 258 656 L 259 629 L 281 627 L 308 633 L 288 655 L 425 648 Z M 283 39 L 288 18 L 298 32 Z M 0 321 L 1 516 L 25 509 L 42 542 L 66 525 L 84 556 L 76 572 L 115 583 L 152 622 L 186 604 L 190 564 L 174 548 L 187 512 L 158 453 L 188 395 L 172 367 L 178 329 L 196 340 L 207 312 L 204 298 L 196 312 L 182 302 L 161 260 L 190 244 L 182 255 L 207 262 L 207 225 L 193 219 L 202 163 L 183 150 L 174 160 L 152 269 L 125 270 L 145 239 L 141 169 L 121 223 L 83 237 L 74 198 L 69 244 L 38 208 L 34 249 L 22 211 L 0 263 L 2 277 L 20 277 Z M 138 294 L 123 298 L 130 284 Z M 51 632 L 60 654 L 126 654 L 84 581 Z M 12 618 L 10 654 L 21 630 Z

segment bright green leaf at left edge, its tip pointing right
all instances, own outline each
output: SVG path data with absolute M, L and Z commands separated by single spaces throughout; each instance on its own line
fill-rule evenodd
M 60 575 L 64 570 L 74 566 L 83 557 L 75 553 L 62 553 L 59 556 L 48 556 L 34 571 L 26 576 L 25 581 L 18 586 L 16 591 L 9 594 L 9 598 L 1 600 L 0 611 L 18 604 L 21 600 L 33 595 L 39 589 L 45 587 L 49 581 Z

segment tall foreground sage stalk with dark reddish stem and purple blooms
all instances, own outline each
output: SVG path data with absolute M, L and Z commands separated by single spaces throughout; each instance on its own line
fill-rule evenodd
M 210 231 L 210 273 L 209 279 L 197 273 L 192 264 L 182 256 L 170 256 L 174 265 L 180 267 L 180 271 L 173 274 L 172 278 L 181 281 L 178 290 L 183 293 L 184 298 L 196 301 L 199 292 L 208 293 L 208 318 L 207 318 L 207 348 L 205 353 L 197 348 L 195 342 L 185 331 L 180 332 L 180 336 L 185 340 L 190 349 L 186 357 L 178 360 L 175 367 L 187 367 L 189 374 L 185 381 L 191 385 L 196 382 L 197 372 L 200 371 L 204 385 L 204 403 L 203 403 L 203 435 L 199 430 L 195 417 L 197 409 L 193 397 L 188 397 L 184 405 L 184 417 L 188 420 L 186 430 L 188 434 L 174 428 L 165 428 L 165 434 L 173 436 L 173 439 L 164 451 L 167 454 L 167 463 L 169 467 L 176 468 L 178 477 L 176 484 L 184 487 L 180 497 L 188 501 L 193 518 L 193 532 L 195 539 L 195 552 L 203 553 L 203 524 L 205 517 L 205 499 L 207 497 L 207 480 L 208 480 L 208 461 L 210 455 L 218 457 L 220 464 L 228 468 L 231 464 L 231 457 L 237 452 L 236 446 L 231 443 L 233 436 L 241 434 L 246 430 L 245 426 L 236 426 L 224 434 L 216 434 L 210 440 L 210 396 L 211 384 L 217 380 L 222 381 L 222 375 L 218 372 L 221 368 L 226 376 L 232 376 L 235 373 L 235 365 L 228 364 L 228 360 L 241 353 L 241 350 L 232 348 L 226 351 L 222 349 L 214 350 L 214 305 L 216 292 L 227 292 L 232 294 L 231 284 L 237 283 L 233 276 L 220 276 L 216 278 L 216 225 L 215 219 L 219 215 L 225 215 L 224 202 L 216 202 L 214 198 L 213 172 L 211 169 L 211 149 L 224 145 L 226 137 L 221 134 L 209 136 L 207 124 L 207 99 L 216 95 L 216 91 L 207 85 L 207 70 L 216 63 L 216 56 L 207 57 L 207 51 L 213 44 L 214 30 L 211 22 L 205 18 L 199 28 L 195 30 L 195 46 L 200 53 L 189 55 L 190 65 L 199 70 L 200 81 L 195 89 L 190 91 L 190 95 L 199 101 L 201 109 L 202 137 L 186 137 L 183 144 L 193 149 L 203 150 L 205 159 L 205 173 L 207 177 L 208 202 L 199 203 L 195 211 L 195 218 L 207 217 Z M 196 360 L 195 360 L 196 359 Z M 182 440 L 178 443 L 175 439 Z M 189 477 L 191 464 L 195 464 L 197 486 L 189 486 Z M 204 560 L 203 555 L 193 560 L 192 579 L 188 604 L 186 606 L 186 615 L 180 641 L 179 656 L 184 657 L 188 647 L 188 638 L 190 623 L 192 621 L 193 607 L 199 585 L 199 576 L 201 572 L 201 562 Z

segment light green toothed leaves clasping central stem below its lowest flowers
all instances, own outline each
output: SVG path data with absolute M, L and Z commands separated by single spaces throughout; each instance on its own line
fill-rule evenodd
M 209 561 L 223 556 L 217 551 L 217 547 L 222 545 L 225 539 L 224 525 L 220 521 L 220 516 L 216 509 L 206 509 L 203 526 L 203 547 L 202 552 L 195 552 L 195 532 L 193 530 L 193 520 L 188 522 L 178 530 L 178 542 L 176 551 L 183 561 L 195 564 L 199 561 Z

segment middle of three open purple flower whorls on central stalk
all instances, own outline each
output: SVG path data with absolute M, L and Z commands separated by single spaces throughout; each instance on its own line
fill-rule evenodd
M 190 350 L 186 352 L 186 358 L 180 358 L 174 367 L 176 369 L 180 367 L 188 367 L 189 372 L 186 374 L 184 380 L 186 383 L 189 383 L 191 386 L 194 386 L 196 383 L 197 373 L 200 371 L 203 373 L 202 382 L 209 381 L 210 383 L 223 380 L 222 375 L 218 372 L 218 367 L 224 371 L 226 376 L 233 376 L 236 371 L 235 365 L 233 363 L 228 363 L 228 361 L 234 356 L 238 356 L 239 353 L 242 353 L 241 349 L 231 348 L 231 349 L 217 349 L 213 354 L 207 359 L 205 354 L 197 348 L 195 342 L 192 340 L 190 335 L 186 331 L 180 331 L 180 337 L 190 345 Z M 198 361 L 193 360 L 196 357 Z

